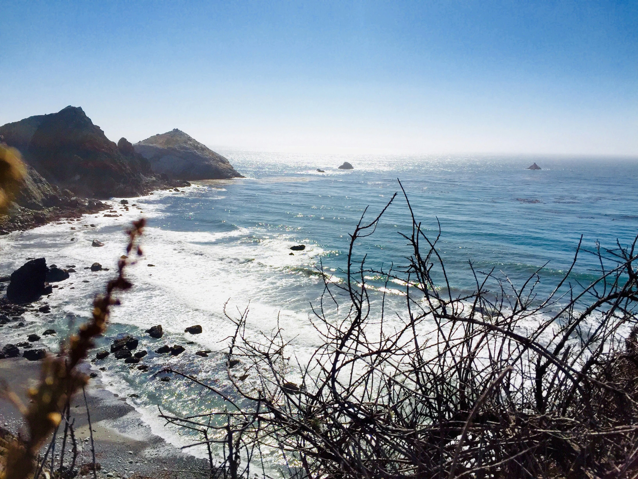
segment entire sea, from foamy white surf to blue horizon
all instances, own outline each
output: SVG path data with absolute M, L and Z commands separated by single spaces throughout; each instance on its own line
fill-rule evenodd
M 179 192 L 129 199 L 130 211 L 123 211 L 117 198 L 110 203 L 121 217 L 88 215 L 72 224 L 48 224 L 0 238 L 0 275 L 10 274 L 27 257 L 75 265 L 77 273 L 43 298 L 50 314 L 29 312 L 23 328 L 6 325 L 0 330 L 1 344 L 15 344 L 53 328 L 57 336 L 41 342 L 56 349 L 60 338 L 89 317 L 93 295 L 115 275 L 126 225 L 147 218 L 144 257 L 128 271 L 134 287 L 121 295 L 122 305 L 114 309 L 99 346 L 108 349 L 114 338 L 135 335 L 138 349 L 150 352 L 142 363 L 151 369 L 130 369 L 112 356 L 93 367 L 108 390 L 128 397 L 153 432 L 177 446 L 186 445 L 191 436 L 165 427 L 157 417 L 158 406 L 195 414 L 218 402 L 187 381 L 163 383 L 155 374 L 171 365 L 222 384 L 225 358 L 219 351 L 234 331 L 225 312 L 237 317 L 246 308 L 249 337 L 283 328 L 295 354 L 301 360 L 307 357 L 318 344 L 311 325 L 311 304 L 323 292 L 318 266 L 323 265 L 332 282 L 343 281 L 348 234 L 366 208 L 366 218 L 372 219 L 395 192 L 401 193 L 399 180 L 431 238 L 440 225 L 438 251 L 455 293 L 473 289 L 471 261 L 476 270 L 494 268 L 514 284 L 546 264 L 537 291 L 547 294 L 570 266 L 581 234 L 589 249 L 597 241 L 607 248 L 616 247 L 616 240 L 626 245 L 638 234 L 638 159 L 220 153 L 246 178 L 198 182 Z M 354 169 L 337 169 L 344 161 Z M 527 170 L 533 162 L 542 170 Z M 366 264 L 374 269 L 406 264 L 410 250 L 399 232 L 410 231 L 400 194 L 375 234 L 357 241 L 355 259 L 366 255 Z M 105 246 L 91 247 L 93 239 Z M 300 244 L 305 250 L 290 250 Z M 96 261 L 110 270 L 84 269 Z M 596 268 L 595 257 L 582 254 L 574 278 L 588 282 L 596 277 Z M 382 285 L 375 277 L 369 281 L 377 291 Z M 400 307 L 400 287 L 389 286 L 386 293 L 390 305 Z M 159 340 L 144 334 L 155 324 L 165 331 Z M 193 324 L 202 326 L 202 334 L 184 333 Z M 163 344 L 182 344 L 186 351 L 170 358 L 152 352 Z M 208 358 L 193 354 L 202 349 L 212 351 Z

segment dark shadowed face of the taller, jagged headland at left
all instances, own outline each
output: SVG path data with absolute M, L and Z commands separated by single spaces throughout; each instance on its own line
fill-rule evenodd
M 0 135 L 41 176 L 75 195 L 137 196 L 151 189 L 147 161 L 135 151 L 122 153 L 81 108 L 8 123 Z

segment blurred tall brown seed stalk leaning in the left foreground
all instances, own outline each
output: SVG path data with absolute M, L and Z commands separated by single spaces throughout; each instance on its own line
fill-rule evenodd
M 119 304 L 119 300 L 115 298 L 115 292 L 125 291 L 131 287 L 131 283 L 124 277 L 124 270 L 130 264 L 128 255 L 131 252 L 142 255 L 137 239 L 142 234 L 144 225 L 145 220 L 142 218 L 133 222 L 133 226 L 127 231 L 129 236 L 126 247 L 127 257 L 119 260 L 118 275 L 108 282 L 105 293 L 98 294 L 94 298 L 91 320 L 82 324 L 77 333 L 61 344 L 58 356 L 48 354 L 43 359 L 40 383 L 27 392 L 31 399 L 29 407 L 24 406 L 15 393 L 4 390 L 4 395 L 13 401 L 24 416 L 28 434 L 26 439 L 19 437 L 19 441 L 9 448 L 3 479 L 25 479 L 34 472 L 34 460 L 41 446 L 54 430 L 57 431 L 64 412 L 68 413 L 71 397 L 78 390 L 82 390 L 87 383 L 88 377 L 77 370 L 77 365 L 87 358 L 87 354 L 95 346 L 94 340 L 106 331 L 110 308 L 112 305 Z M 67 432 L 70 432 L 71 436 L 74 434 L 72 424 L 68 422 L 68 416 L 65 422 L 65 437 Z M 54 442 L 52 444 L 54 445 Z M 54 457 L 53 452 L 51 457 Z M 61 460 L 60 472 L 62 466 Z M 53 469 L 52 462 L 52 472 Z

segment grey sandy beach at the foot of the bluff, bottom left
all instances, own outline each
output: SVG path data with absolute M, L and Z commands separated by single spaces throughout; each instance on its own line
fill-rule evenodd
M 39 361 L 24 358 L 0 360 L 0 380 L 17 393 L 27 404 L 26 390 L 36 384 L 40 371 Z M 89 380 L 86 388 L 87 404 L 91 414 L 96 462 L 101 466 L 102 478 L 173 478 L 179 476 L 202 477 L 209 467 L 207 461 L 181 452 L 161 437 L 152 434 L 126 399 L 107 391 L 100 377 Z M 82 394 L 71 402 L 71 417 L 75 419 L 78 443 L 77 466 L 91 462 L 91 442 L 87 412 Z M 17 434 L 24 431 L 19 411 L 7 400 L 0 400 L 0 425 Z M 62 443 L 61 431 L 57 434 L 56 451 Z M 43 448 L 46 451 L 48 444 Z M 70 446 L 67 443 L 67 457 Z M 56 452 L 57 454 L 57 452 Z

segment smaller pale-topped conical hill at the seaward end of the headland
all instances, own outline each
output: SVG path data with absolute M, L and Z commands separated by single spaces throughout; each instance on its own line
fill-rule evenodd
M 154 135 L 133 145 L 152 171 L 173 179 L 243 178 L 223 156 L 181 130 Z

